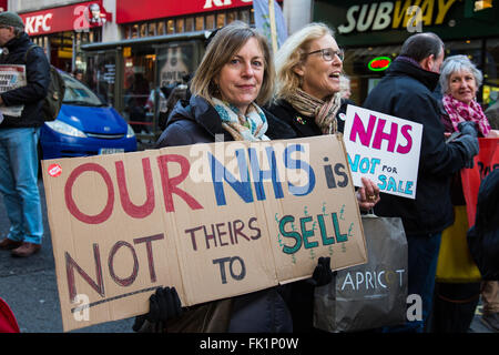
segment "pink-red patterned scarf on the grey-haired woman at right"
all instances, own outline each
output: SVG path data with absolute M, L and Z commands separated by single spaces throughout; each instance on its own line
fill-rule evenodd
M 487 136 L 491 130 L 489 120 L 483 114 L 480 104 L 472 100 L 469 105 L 455 99 L 450 94 L 444 95 L 444 106 L 449 114 L 450 122 L 456 131 L 459 131 L 458 124 L 465 121 L 477 122 L 478 131 L 483 136 Z

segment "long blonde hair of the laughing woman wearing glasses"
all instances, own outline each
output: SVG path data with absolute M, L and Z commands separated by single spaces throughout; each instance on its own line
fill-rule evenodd
M 276 100 L 289 98 L 302 85 L 294 69 L 304 60 L 310 43 L 326 34 L 334 37 L 334 31 L 325 23 L 312 22 L 286 39 L 275 55 Z

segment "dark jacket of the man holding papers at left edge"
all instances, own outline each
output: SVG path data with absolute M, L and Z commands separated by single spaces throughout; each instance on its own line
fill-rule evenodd
M 42 99 L 47 97 L 50 83 L 50 64 L 40 47 L 33 45 L 26 32 L 11 39 L 4 48 L 8 53 L 0 55 L 0 64 L 26 64 L 28 84 L 22 88 L 3 92 L 1 98 L 7 106 L 23 104 L 20 118 L 4 115 L 0 128 L 29 128 L 43 124 L 41 115 Z

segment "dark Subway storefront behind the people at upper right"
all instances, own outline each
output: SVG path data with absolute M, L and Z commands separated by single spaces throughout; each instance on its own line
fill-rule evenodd
M 328 23 L 345 49 L 344 70 L 353 99 L 361 104 L 416 32 L 435 32 L 446 57 L 466 54 L 483 73 L 478 101 L 487 106 L 499 93 L 499 4 L 470 0 L 315 0 L 313 20 Z

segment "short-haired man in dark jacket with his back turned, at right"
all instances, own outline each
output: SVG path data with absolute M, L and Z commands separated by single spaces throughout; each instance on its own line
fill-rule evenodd
M 399 216 L 408 242 L 408 294 L 419 295 L 422 312 L 390 331 L 422 332 L 431 311 L 441 232 L 454 223 L 450 176 L 478 153 L 477 133 L 465 125 L 461 136 L 446 143 L 438 103 L 431 95 L 444 60 L 444 43 L 434 33 L 417 33 L 369 93 L 364 106 L 424 125 L 416 199 L 383 194 L 375 206 L 380 216 Z

